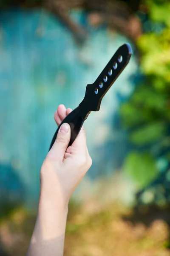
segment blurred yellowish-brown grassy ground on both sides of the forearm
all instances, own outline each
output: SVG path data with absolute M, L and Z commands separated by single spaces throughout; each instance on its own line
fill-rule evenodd
M 132 214 L 120 204 L 110 204 L 105 209 L 89 206 L 69 207 L 65 238 L 65 256 L 169 256 L 166 249 L 169 228 L 161 219 L 147 227 L 142 222 L 135 225 L 125 221 Z M 146 215 L 147 218 L 147 215 Z M 0 238 L 9 256 L 26 254 L 34 227 L 35 215 L 18 209 L 0 223 Z

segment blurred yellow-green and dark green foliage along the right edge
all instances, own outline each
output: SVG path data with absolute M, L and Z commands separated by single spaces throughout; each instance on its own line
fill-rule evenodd
M 170 1 L 144 2 L 150 21 L 161 23 L 163 28 L 158 33 L 153 27 L 137 41 L 144 80 L 120 110 L 123 124 L 130 130 L 131 142 L 136 148 L 147 148 L 144 154 L 130 153 L 124 165 L 125 172 L 143 187 L 156 177 L 154 159 L 159 154 L 170 163 L 167 136 L 170 131 Z

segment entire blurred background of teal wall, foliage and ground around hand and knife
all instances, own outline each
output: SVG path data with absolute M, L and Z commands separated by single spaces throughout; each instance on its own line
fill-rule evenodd
M 0 0 L 0 256 L 26 254 L 58 105 L 76 108 L 124 43 L 130 63 L 85 122 L 93 165 L 64 255 L 170 255 L 170 2 Z

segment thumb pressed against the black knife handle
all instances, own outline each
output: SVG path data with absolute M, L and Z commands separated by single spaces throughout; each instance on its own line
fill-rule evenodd
M 51 154 L 57 156 L 57 159 L 62 160 L 65 154 L 65 151 L 68 147 L 71 137 L 71 128 L 68 123 L 63 123 L 59 128 L 57 138 L 51 148 Z

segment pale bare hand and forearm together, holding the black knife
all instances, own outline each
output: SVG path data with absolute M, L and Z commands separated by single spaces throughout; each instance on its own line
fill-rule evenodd
M 71 111 L 59 105 L 54 114 L 57 125 Z M 68 147 L 70 135 L 70 126 L 63 124 L 42 164 L 38 215 L 27 256 L 63 255 L 68 202 L 92 164 L 84 128 Z

